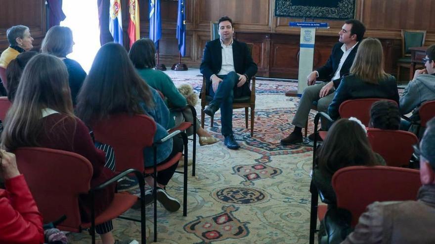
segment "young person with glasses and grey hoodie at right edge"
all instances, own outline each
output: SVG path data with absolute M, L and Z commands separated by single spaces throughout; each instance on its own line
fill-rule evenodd
M 425 69 L 415 70 L 414 78 L 409 81 L 399 101 L 400 113 L 402 115 L 412 112 L 410 120 L 418 122 L 420 116 L 418 109 L 424 102 L 435 100 L 435 44 L 426 50 L 426 57 L 422 60 Z M 402 120 L 400 129 L 417 133 L 417 126 L 411 121 Z M 424 130 L 420 130 L 419 138 Z

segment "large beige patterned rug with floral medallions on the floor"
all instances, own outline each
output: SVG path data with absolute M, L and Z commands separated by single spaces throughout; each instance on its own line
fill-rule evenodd
M 176 84 L 192 84 L 197 91 L 202 83 L 201 77 L 172 78 Z M 195 177 L 189 166 L 187 216 L 182 216 L 181 209 L 170 213 L 159 204 L 157 243 L 308 243 L 312 143 L 307 139 L 295 146 L 279 143 L 292 129 L 290 122 L 299 102 L 299 98 L 285 97 L 284 93 L 296 87 L 296 83 L 258 79 L 254 137 L 245 128 L 244 110 L 236 109 L 233 128 L 241 144 L 239 150 L 227 149 L 223 141 L 198 144 Z M 200 115 L 200 106 L 196 109 Z M 313 115 L 309 119 L 311 130 Z M 208 116 L 205 124 L 215 137 L 223 139 L 219 111 L 213 128 Z M 175 174 L 167 187 L 179 200 L 182 182 L 183 175 Z M 131 209 L 126 215 L 139 217 L 140 213 Z M 146 208 L 148 243 L 153 241 L 152 215 L 151 205 Z M 140 240 L 138 223 L 115 219 L 114 228 L 119 240 Z M 72 243 L 90 243 L 86 232 L 68 237 Z

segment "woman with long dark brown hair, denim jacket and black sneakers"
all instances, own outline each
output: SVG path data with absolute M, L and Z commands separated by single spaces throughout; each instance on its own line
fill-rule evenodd
M 169 109 L 159 93 L 148 86 L 134 69 L 127 51 L 117 43 L 106 43 L 98 50 L 82 90 L 77 97 L 77 116 L 87 125 L 117 113 L 145 114 L 156 122 L 154 140 L 168 135 Z M 119 128 L 122 130 L 122 128 Z M 179 137 L 169 139 L 157 146 L 157 164 L 171 160 L 183 151 L 183 142 Z M 154 162 L 152 147 L 144 148 L 144 165 L 151 167 Z M 157 174 L 157 200 L 168 211 L 176 211 L 180 203 L 165 190 L 178 163 Z M 151 176 L 145 177 L 147 183 L 154 186 Z M 146 201 L 152 200 L 147 192 Z

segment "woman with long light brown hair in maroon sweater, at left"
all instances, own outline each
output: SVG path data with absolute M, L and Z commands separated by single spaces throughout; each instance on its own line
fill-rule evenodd
M 52 55 L 36 55 L 26 65 L 15 100 L 6 115 L 2 143 L 7 150 L 39 146 L 80 154 L 92 164 L 91 187 L 113 176 L 112 171 L 104 167 L 104 152 L 95 148 L 87 126 L 74 116 L 68 71 L 63 62 Z M 114 185 L 95 192 L 96 215 L 109 206 L 114 192 Z M 86 222 L 90 221 L 89 206 L 90 197 L 81 196 L 81 215 Z M 111 221 L 95 229 L 103 244 L 115 242 Z

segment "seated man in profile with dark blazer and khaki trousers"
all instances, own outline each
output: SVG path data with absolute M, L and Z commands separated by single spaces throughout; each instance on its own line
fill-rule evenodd
M 347 74 L 352 66 L 358 49 L 358 43 L 362 40 L 365 33 L 364 25 L 358 20 L 347 20 L 343 25 L 339 35 L 339 42 L 332 48 L 326 64 L 312 71 L 307 77 L 308 87 L 302 94 L 301 101 L 293 118 L 292 125 L 295 130 L 286 138 L 281 140 L 281 144 L 291 145 L 300 143 L 302 139 L 302 128 L 308 119 L 309 110 L 314 101 L 317 101 L 317 110 L 326 112 L 328 106 L 334 98 L 334 90 L 338 88 L 341 78 Z M 324 79 L 325 82 L 315 84 L 316 79 Z M 322 121 L 322 129 L 326 130 L 328 123 Z M 313 138 L 317 135 L 310 135 Z

